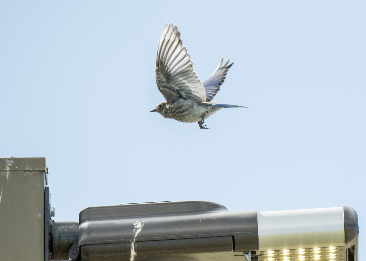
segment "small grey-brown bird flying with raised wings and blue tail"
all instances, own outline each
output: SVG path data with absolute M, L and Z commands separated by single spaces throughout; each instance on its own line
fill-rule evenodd
M 164 118 L 181 122 L 198 122 L 206 128 L 204 120 L 217 110 L 229 107 L 244 107 L 212 102 L 220 90 L 232 63 L 223 59 L 214 73 L 204 82 L 198 79 L 186 47 L 182 45 L 178 27 L 166 23 L 160 35 L 156 56 L 156 85 L 166 102 L 160 103 L 150 112 L 156 111 Z

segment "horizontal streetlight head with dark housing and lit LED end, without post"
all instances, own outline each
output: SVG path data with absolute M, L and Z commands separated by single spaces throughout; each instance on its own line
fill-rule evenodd
M 78 247 L 83 261 L 351 261 L 357 236 L 357 214 L 346 205 L 229 212 L 184 201 L 86 208 Z

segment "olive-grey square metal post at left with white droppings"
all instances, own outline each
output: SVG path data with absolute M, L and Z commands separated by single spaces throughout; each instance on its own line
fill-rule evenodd
M 1 260 L 44 260 L 45 158 L 0 158 Z

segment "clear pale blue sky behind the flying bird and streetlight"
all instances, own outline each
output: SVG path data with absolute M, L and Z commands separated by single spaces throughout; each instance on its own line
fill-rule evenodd
M 366 222 L 364 1 L 1 1 L 0 156 L 45 157 L 56 221 L 89 206 L 206 200 L 230 211 L 339 207 Z M 164 101 L 166 22 L 205 80 L 197 123 Z

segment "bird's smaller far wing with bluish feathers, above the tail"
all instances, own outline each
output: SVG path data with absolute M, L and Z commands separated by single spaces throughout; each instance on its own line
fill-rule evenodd
M 226 75 L 228 73 L 229 68 L 234 64 L 229 63 L 230 60 L 228 60 L 222 67 L 224 59 L 221 59 L 221 62 L 219 66 L 217 66 L 216 70 L 212 73 L 212 75 L 205 80 L 202 84 L 205 87 L 206 95 L 207 95 L 207 101 L 212 101 L 213 97 L 217 94 L 217 92 L 220 90 L 220 86 L 223 84 Z

